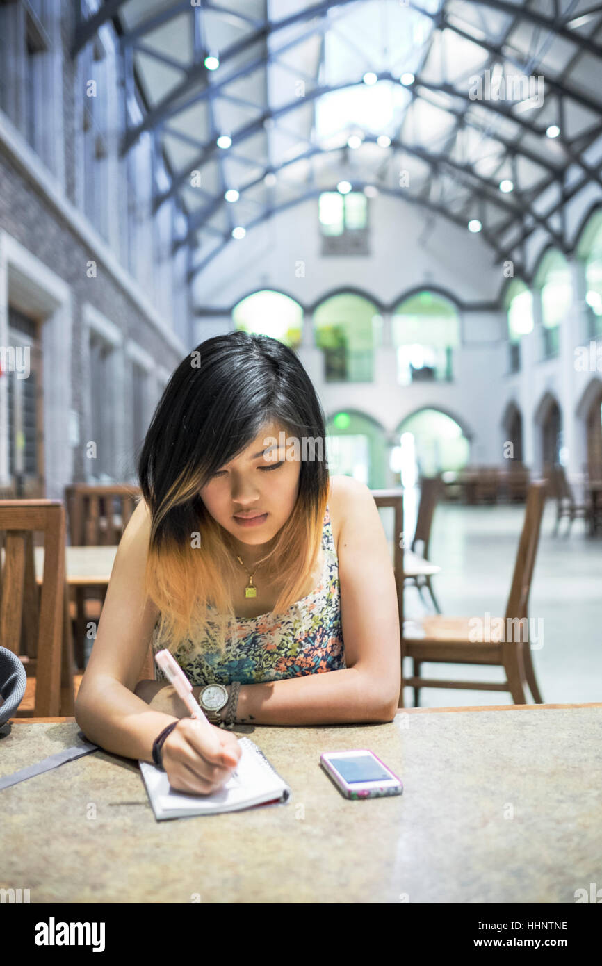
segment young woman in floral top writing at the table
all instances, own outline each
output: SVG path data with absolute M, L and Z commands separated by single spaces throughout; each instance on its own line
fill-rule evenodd
M 400 639 L 387 540 L 367 487 L 330 479 L 325 443 L 313 385 L 276 339 L 228 332 L 183 359 L 144 441 L 142 498 L 77 695 L 92 741 L 156 760 L 172 787 L 204 794 L 241 753 L 220 725 L 392 720 Z M 185 670 L 211 730 L 158 668 L 139 681 L 149 644 Z

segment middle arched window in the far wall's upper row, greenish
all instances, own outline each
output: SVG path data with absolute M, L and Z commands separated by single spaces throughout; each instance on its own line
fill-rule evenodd
M 342 292 L 321 302 L 313 316 L 316 345 L 326 361 L 327 383 L 371 383 L 382 316 L 369 298 Z

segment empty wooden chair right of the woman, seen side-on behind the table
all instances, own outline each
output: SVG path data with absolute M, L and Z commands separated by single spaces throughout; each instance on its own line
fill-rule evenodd
M 429 616 L 422 621 L 423 638 L 402 637 L 402 663 L 410 657 L 414 663 L 414 675 L 406 679 L 406 684 L 414 688 L 415 704 L 418 706 L 420 688 L 463 688 L 471 691 L 509 691 L 515 704 L 528 703 L 525 696 L 529 685 L 535 704 L 543 698 L 537 685 L 530 654 L 530 642 L 524 639 L 524 618 L 528 619 L 530 582 L 539 542 L 539 528 L 546 497 L 547 480 L 536 480 L 530 484 L 527 498 L 525 522 L 516 555 L 514 575 L 503 622 L 502 641 L 473 640 L 471 618 Z M 519 640 L 506 640 L 505 630 L 510 626 L 518 627 Z M 509 621 L 513 623 L 509 624 Z M 492 618 L 493 622 L 493 618 Z M 511 635 L 514 637 L 514 634 Z M 506 680 L 497 682 L 446 681 L 420 677 L 423 661 L 441 664 L 492 665 L 504 668 Z M 403 705 L 400 705 L 403 707 Z

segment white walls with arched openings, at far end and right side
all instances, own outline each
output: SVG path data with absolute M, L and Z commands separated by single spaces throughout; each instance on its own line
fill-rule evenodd
M 601 196 L 597 186 L 588 185 L 567 205 L 573 241 Z M 369 204 L 372 254 L 367 257 L 321 255 L 317 200 L 275 215 L 251 229 L 242 241 L 230 242 L 194 279 L 193 304 L 208 313 L 197 317 L 196 341 L 233 327 L 229 316 L 212 315 L 212 309 L 230 308 L 261 288 L 285 292 L 305 309 L 343 287 L 358 289 L 387 308 L 416 287 L 439 288 L 464 306 L 460 312 L 463 347 L 454 353 L 454 382 L 400 386 L 392 379 L 390 363 L 379 362 L 377 354 L 373 384 L 326 384 L 315 350 L 301 347 L 299 355 L 327 415 L 353 406 L 391 432 L 411 412 L 441 409 L 458 419 L 472 437 L 472 462 L 499 465 L 503 413 L 514 401 L 523 414 L 524 460 L 537 472 L 541 469 L 539 429 L 534 418 L 542 397 L 550 391 L 562 412 L 569 476 L 577 481 L 586 460 L 585 424 L 577 407 L 592 378 L 591 373 L 576 372 L 574 366 L 575 346 L 587 341 L 579 265 L 572 263 L 575 293 L 562 327 L 559 356 L 541 360 L 539 332 L 533 330 L 523 340 L 521 372 L 509 374 L 505 313 L 495 307 L 501 305 L 507 279 L 503 263 L 495 264 L 495 253 L 486 241 L 403 200 L 379 195 Z M 541 229 L 530 236 L 528 270 L 536 267 L 547 243 Z

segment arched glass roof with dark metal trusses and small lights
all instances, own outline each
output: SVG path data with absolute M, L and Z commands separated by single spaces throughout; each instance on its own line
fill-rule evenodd
M 167 174 L 155 204 L 186 213 L 189 277 L 237 243 L 236 226 L 248 234 L 341 180 L 463 228 L 478 219 L 520 273 L 536 229 L 570 248 L 563 179 L 565 201 L 602 186 L 591 0 L 112 0 L 81 21 L 73 54 L 109 18 L 142 109 L 122 152 L 154 132 Z

